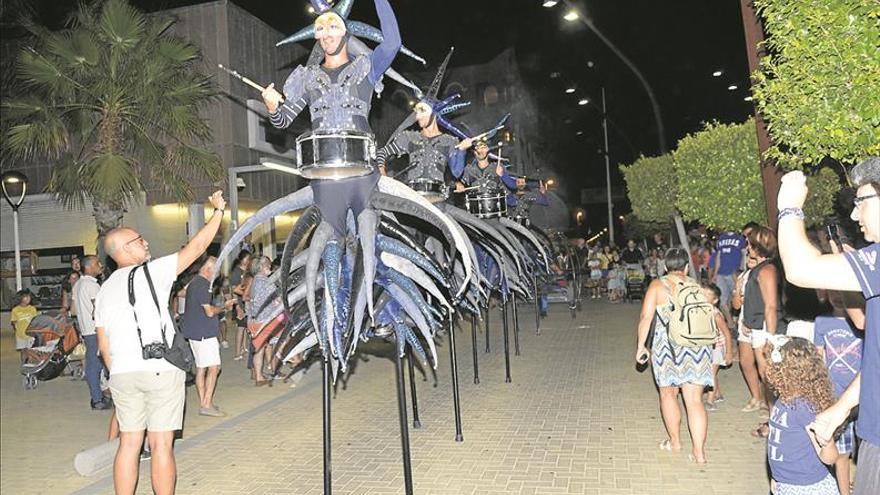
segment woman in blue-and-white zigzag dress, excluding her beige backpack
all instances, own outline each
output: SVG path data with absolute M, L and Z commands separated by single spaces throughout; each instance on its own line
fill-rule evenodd
M 669 438 L 660 442 L 660 449 L 681 450 L 681 410 L 678 394 L 684 398 L 688 430 L 693 450 L 690 459 L 705 463 L 706 433 L 709 418 L 703 406 L 703 389 L 712 386 L 712 346 L 681 347 L 669 339 L 667 321 L 671 310 L 672 287 L 678 280 L 687 279 L 688 252 L 671 248 L 664 258 L 668 274 L 655 279 L 648 286 L 639 319 L 636 362 L 646 364 L 648 359 L 654 371 L 654 381 L 660 389 L 660 413 Z M 666 280 L 668 278 L 668 280 Z M 653 342 L 648 350 L 648 336 L 653 327 Z

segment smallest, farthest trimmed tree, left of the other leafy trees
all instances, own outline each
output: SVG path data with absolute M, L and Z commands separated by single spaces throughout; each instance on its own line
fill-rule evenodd
M 633 214 L 647 222 L 668 222 L 675 214 L 678 181 L 672 155 L 641 156 L 620 166 Z

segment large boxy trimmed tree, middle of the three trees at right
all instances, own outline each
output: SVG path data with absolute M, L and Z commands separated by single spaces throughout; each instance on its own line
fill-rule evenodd
M 766 223 L 755 123 L 709 123 L 685 136 L 672 153 L 685 220 L 717 230 Z

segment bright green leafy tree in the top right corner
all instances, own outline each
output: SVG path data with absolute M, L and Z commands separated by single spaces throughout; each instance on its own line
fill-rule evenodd
M 880 3 L 755 0 L 768 55 L 752 90 L 786 168 L 880 155 Z

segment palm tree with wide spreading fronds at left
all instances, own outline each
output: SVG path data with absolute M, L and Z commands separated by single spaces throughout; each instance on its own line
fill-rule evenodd
M 216 91 L 173 24 L 125 0 L 81 4 L 61 31 L 26 24 L 3 146 L 16 159 L 51 160 L 47 190 L 65 206 L 91 201 L 99 248 L 144 185 L 186 202 L 193 181 L 223 175 L 200 115 Z

